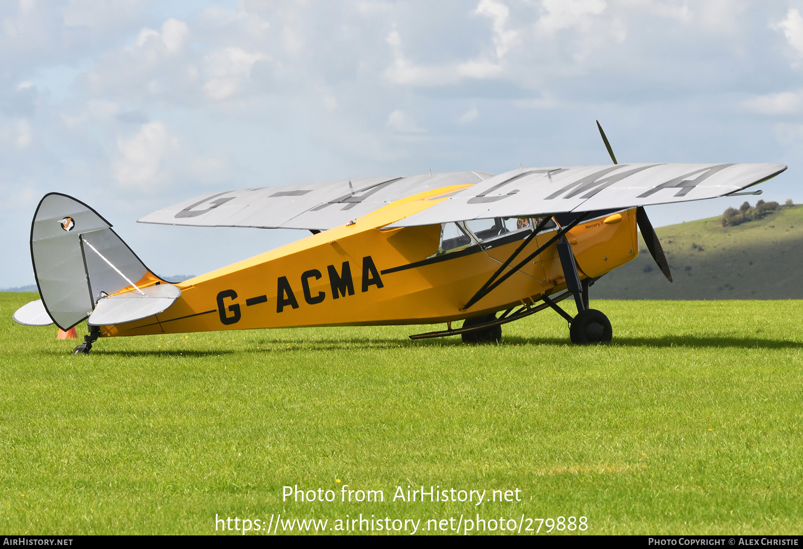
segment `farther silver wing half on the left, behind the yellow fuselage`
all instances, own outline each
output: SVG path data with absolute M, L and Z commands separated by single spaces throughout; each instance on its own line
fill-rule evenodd
M 328 230 L 400 198 L 450 185 L 474 185 L 492 173 L 342 179 L 209 193 L 146 215 L 140 223 L 205 227 Z

